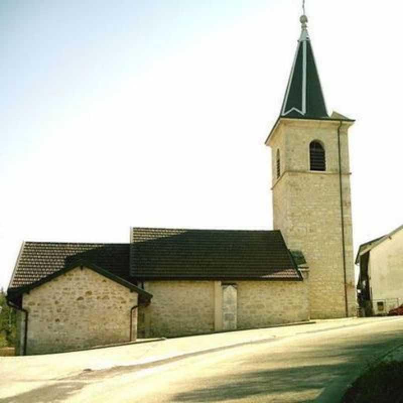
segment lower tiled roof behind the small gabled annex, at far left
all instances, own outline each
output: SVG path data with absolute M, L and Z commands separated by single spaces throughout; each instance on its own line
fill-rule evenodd
M 41 281 L 79 260 L 130 282 L 129 244 L 24 242 L 9 290 Z

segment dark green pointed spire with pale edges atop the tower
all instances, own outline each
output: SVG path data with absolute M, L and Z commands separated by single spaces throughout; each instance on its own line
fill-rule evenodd
M 303 15 L 300 22 L 301 36 L 280 117 L 327 119 L 322 87 L 306 26 L 308 18 Z

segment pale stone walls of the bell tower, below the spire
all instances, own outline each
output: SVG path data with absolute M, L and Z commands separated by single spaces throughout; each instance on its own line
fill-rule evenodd
M 342 201 L 348 316 L 356 315 L 351 220 L 348 128 L 341 127 Z M 346 316 L 339 121 L 280 119 L 268 145 L 272 148 L 274 229 L 280 229 L 290 249 L 300 249 L 309 265 L 311 318 Z M 326 170 L 311 171 L 309 144 L 325 150 Z M 277 150 L 281 172 L 277 177 Z

